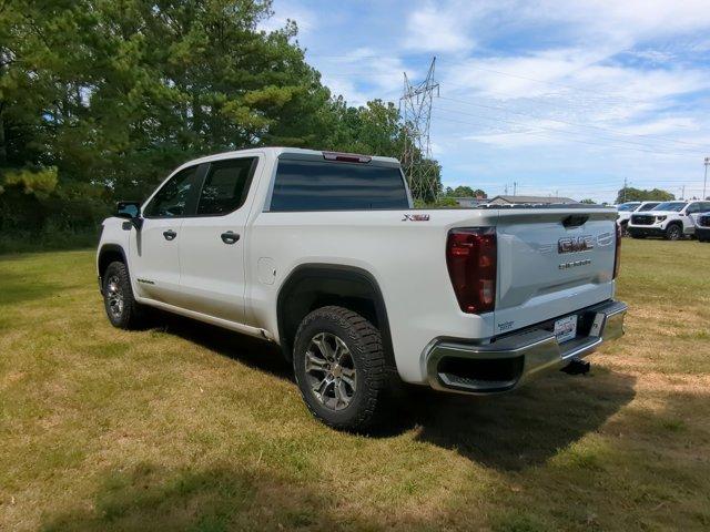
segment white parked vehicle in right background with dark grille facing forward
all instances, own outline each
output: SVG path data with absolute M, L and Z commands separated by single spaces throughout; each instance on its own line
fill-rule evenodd
M 696 233 L 690 215 L 706 211 L 710 211 L 710 202 L 663 202 L 650 211 L 631 214 L 627 232 L 633 238 L 659 236 L 679 241 Z

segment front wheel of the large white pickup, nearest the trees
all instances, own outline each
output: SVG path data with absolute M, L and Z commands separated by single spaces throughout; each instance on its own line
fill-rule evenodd
M 129 330 L 141 328 L 145 321 L 145 310 L 133 297 L 125 264 L 118 260 L 111 263 L 103 273 L 102 282 L 103 307 L 111 325 Z

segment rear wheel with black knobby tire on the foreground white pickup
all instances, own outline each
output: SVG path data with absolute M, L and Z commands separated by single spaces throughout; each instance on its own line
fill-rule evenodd
M 337 340 L 342 340 L 346 349 Z M 328 346 L 331 355 L 334 355 L 332 359 L 336 360 L 327 364 L 327 369 L 321 361 L 314 364 L 316 358 L 327 358 L 318 347 L 322 344 Z M 337 358 L 338 352 L 346 354 L 344 357 L 347 359 Z M 308 314 L 296 332 L 293 366 L 303 400 L 311 413 L 325 424 L 337 430 L 363 432 L 384 419 L 387 374 L 382 336 L 359 314 L 336 306 L 322 307 Z M 342 372 L 336 375 L 338 367 Z M 354 388 L 347 385 L 346 370 L 348 379 L 352 377 L 355 382 Z M 333 380 L 323 386 L 328 378 Z M 344 399 L 338 402 L 342 397 L 348 399 L 346 406 L 343 406 Z

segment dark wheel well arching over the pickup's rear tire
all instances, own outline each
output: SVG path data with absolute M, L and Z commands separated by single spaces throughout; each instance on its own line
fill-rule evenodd
M 278 336 L 288 360 L 303 318 L 316 308 L 328 305 L 353 310 L 377 327 L 385 348 L 385 359 L 390 367 L 395 367 L 387 311 L 377 282 L 363 269 L 329 265 L 296 268 L 278 291 Z

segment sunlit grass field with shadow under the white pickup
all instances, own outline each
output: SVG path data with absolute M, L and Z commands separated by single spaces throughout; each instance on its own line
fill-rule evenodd
M 710 245 L 625 241 L 586 377 L 313 420 L 265 344 L 104 317 L 93 252 L 0 256 L 0 530 L 710 530 Z

